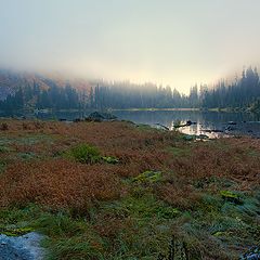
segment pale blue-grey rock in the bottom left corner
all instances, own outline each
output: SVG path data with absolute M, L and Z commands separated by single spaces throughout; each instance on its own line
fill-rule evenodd
M 44 249 L 40 247 L 42 235 L 30 232 L 23 236 L 0 235 L 1 260 L 43 260 Z

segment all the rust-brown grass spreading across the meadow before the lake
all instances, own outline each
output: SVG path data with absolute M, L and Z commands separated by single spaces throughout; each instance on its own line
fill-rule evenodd
M 43 155 L 42 161 L 15 161 L 1 176 L 1 205 L 39 203 L 52 207 L 88 207 L 95 199 L 120 195 L 119 177 L 135 177 L 145 170 L 161 170 L 169 178 L 158 184 L 159 196 L 188 208 L 199 199 L 194 182 L 211 177 L 226 178 L 247 190 L 260 183 L 260 141 L 225 139 L 206 143 L 185 142 L 176 132 L 139 129 L 127 122 L 4 121 L 2 136 L 39 136 L 34 144 L 13 144 L 18 153 Z M 103 156 L 116 156 L 119 164 L 80 165 L 53 159 L 77 144 L 95 145 Z M 178 156 L 167 147 L 186 150 Z M 213 185 L 211 188 L 214 188 Z M 218 187 L 217 187 L 218 190 Z

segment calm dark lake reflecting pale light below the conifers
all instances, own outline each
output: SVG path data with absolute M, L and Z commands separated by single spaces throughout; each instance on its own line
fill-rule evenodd
M 40 119 L 73 120 L 87 117 L 91 112 L 56 112 L 38 113 Z M 195 122 L 179 130 L 187 134 L 206 134 L 216 138 L 223 134 L 247 134 L 260 136 L 260 115 L 251 113 L 200 112 L 200 110 L 114 110 L 119 119 L 130 120 L 135 123 L 145 123 L 158 127 L 157 123 L 173 129 L 174 125 L 185 123 L 187 120 Z M 232 121 L 232 122 L 231 122 Z M 217 130 L 217 132 L 216 132 Z M 222 132 L 223 131 L 223 132 Z

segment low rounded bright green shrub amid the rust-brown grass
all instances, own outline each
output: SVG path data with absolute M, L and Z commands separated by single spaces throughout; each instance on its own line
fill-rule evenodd
M 80 144 L 68 151 L 65 156 L 81 164 L 95 164 L 101 160 L 100 151 L 89 144 Z

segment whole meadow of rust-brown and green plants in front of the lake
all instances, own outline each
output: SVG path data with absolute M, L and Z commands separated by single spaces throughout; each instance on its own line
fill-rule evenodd
M 48 259 L 171 259 L 172 236 L 174 259 L 238 259 L 260 243 L 260 140 L 186 141 L 118 121 L 0 125 L 0 233 L 46 234 Z M 116 162 L 68 156 L 80 145 Z

